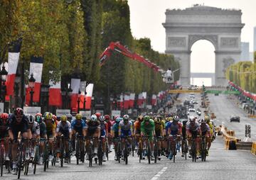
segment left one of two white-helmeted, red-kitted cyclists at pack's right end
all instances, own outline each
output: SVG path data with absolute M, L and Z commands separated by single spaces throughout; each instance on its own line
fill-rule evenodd
M 198 136 L 201 135 L 201 127 L 193 116 L 189 117 L 189 121 L 186 124 L 186 135 L 188 137 L 188 146 L 191 146 L 191 137 L 196 139 L 196 155 L 198 156 L 200 150 L 200 138 Z M 188 157 L 191 157 L 191 153 Z

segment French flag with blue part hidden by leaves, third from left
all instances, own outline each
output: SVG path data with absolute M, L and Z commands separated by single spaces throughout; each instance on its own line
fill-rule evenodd
M 62 96 L 60 91 L 60 81 L 53 83 L 49 82 L 49 105 L 50 106 L 62 106 Z

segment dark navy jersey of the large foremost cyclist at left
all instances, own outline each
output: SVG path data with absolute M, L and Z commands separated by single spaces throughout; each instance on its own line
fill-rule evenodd
M 18 132 L 26 133 L 28 132 L 28 119 L 25 115 L 22 116 L 21 122 L 18 122 L 14 116 L 11 114 L 8 118 L 8 128 L 14 134 L 14 139 L 18 138 Z

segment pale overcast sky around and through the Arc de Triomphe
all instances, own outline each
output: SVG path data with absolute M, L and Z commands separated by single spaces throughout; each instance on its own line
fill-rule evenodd
M 253 27 L 256 26 L 256 0 L 128 0 L 132 35 L 135 38 L 150 38 L 151 46 L 159 52 L 165 51 L 166 33 L 162 26 L 166 9 L 186 9 L 193 4 L 204 4 L 222 9 L 241 9 L 241 41 L 250 43 L 253 50 Z M 214 72 L 214 47 L 207 40 L 196 42 L 191 53 L 191 72 Z M 207 58 L 206 58 L 207 57 Z M 207 62 L 205 60 L 208 60 Z M 210 66 L 209 66 L 210 64 Z

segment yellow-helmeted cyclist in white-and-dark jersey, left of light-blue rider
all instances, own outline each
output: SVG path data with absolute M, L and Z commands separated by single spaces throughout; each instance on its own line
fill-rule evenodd
M 57 128 L 56 128 L 56 133 L 58 135 L 58 137 L 63 136 L 65 138 L 65 162 L 68 162 L 68 158 L 70 157 L 70 152 L 69 152 L 69 140 L 71 139 L 72 136 L 72 130 L 71 130 L 71 124 L 68 121 L 68 117 L 67 116 L 61 116 L 60 117 L 60 122 L 58 122 L 57 124 Z M 57 139 L 58 141 L 60 140 L 60 138 Z M 60 142 L 57 143 L 58 145 L 60 144 Z

